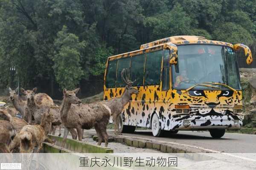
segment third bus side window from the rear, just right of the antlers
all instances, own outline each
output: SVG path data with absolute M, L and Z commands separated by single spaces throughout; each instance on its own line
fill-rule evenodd
M 143 77 L 144 77 L 144 61 L 145 54 L 137 55 L 135 57 L 131 57 L 131 81 L 134 82 L 134 86 L 143 85 Z

